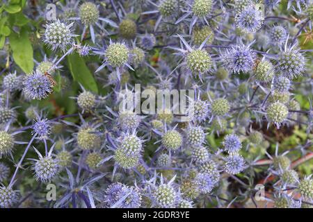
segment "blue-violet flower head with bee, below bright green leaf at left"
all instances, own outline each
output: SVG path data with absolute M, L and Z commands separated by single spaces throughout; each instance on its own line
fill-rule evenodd
M 30 99 L 45 99 L 53 91 L 51 80 L 38 71 L 26 76 L 23 85 L 24 93 Z

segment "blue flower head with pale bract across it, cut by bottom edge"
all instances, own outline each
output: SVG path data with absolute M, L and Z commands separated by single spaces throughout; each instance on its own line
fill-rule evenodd
M 106 189 L 105 201 L 108 207 L 138 208 L 141 206 L 141 193 L 136 187 L 115 182 Z

